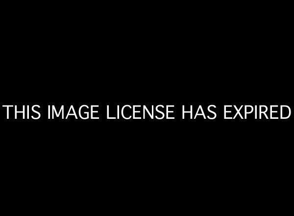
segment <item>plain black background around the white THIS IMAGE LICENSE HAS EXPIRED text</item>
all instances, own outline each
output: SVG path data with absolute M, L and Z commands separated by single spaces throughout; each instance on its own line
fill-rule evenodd
M 5 202 L 82 212 L 280 211 L 291 191 L 293 117 L 225 121 L 222 106 L 293 108 L 290 14 L 257 5 L 121 6 L 9 10 L 1 105 L 174 104 L 177 119 L 2 118 Z M 180 120 L 181 105 L 210 104 L 220 110 L 215 121 Z

